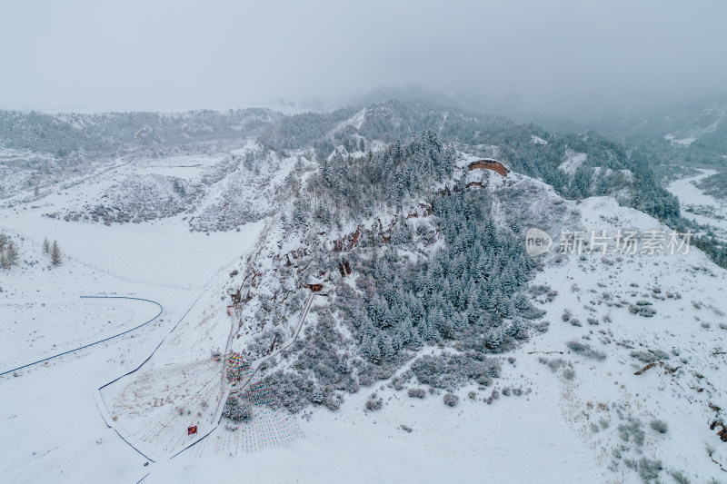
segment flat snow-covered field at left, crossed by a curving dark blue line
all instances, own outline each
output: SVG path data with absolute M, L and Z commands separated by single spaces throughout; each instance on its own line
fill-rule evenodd
M 0 272 L 0 372 L 132 329 L 162 307 L 142 328 L 0 377 L 4 482 L 141 479 L 147 460 L 105 424 L 93 390 L 144 362 L 211 281 L 228 277 L 221 270 L 239 262 L 263 227 L 253 222 L 239 232 L 206 235 L 190 232 L 181 216 L 111 226 L 43 216 L 51 206 L 76 206 L 117 174 L 49 194 L 36 205 L 11 199 L 15 206 L 0 211 L 0 231 L 20 255 L 17 266 Z M 45 237 L 59 243 L 58 267 L 43 250 Z M 199 350 L 208 357 L 218 344 Z

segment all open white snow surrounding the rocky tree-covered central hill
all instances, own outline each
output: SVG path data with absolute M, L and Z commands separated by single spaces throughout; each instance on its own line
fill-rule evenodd
M 573 171 L 584 157 L 572 153 L 563 169 Z M 185 164 L 194 163 L 174 158 L 139 170 L 199 180 L 203 171 Z M 158 311 L 143 301 L 82 295 L 163 308 L 138 330 L 0 377 L 0 480 L 642 482 L 655 471 L 662 482 L 725 479 L 727 444 L 710 423 L 727 408 L 727 272 L 693 248 L 543 256 L 533 284 L 558 291 L 538 302 L 549 330 L 498 355 L 502 378 L 458 390 L 454 407 L 438 390 L 420 400 L 387 380 L 348 396 L 337 411 L 275 414 L 270 429 L 221 426 L 169 459 L 195 439 L 187 435 L 197 421 L 192 409 L 212 415 L 224 395 L 222 364 L 212 355 L 234 334 L 229 273 L 244 272 L 244 255 L 265 247 L 255 245 L 265 221 L 207 235 L 190 232 L 183 213 L 110 226 L 43 216 L 71 210 L 124 176 L 111 171 L 49 193 L 35 208 L 18 202 L 0 210 L 0 228 L 21 259 L 0 273 L 0 370 L 125 331 Z M 283 179 L 271 175 L 270 190 Z M 512 179 L 533 191 L 533 217 L 545 217 L 553 191 L 517 173 Z M 224 183 L 210 193 L 233 186 Z M 688 181 L 670 188 L 685 200 L 696 190 Z M 612 198 L 558 202 L 575 214 L 571 230 L 666 230 Z M 50 267 L 44 237 L 67 254 L 60 266 Z M 383 408 L 364 411 L 373 392 Z M 214 427 L 202 413 L 198 435 Z M 245 447 L 251 435 L 257 447 Z M 284 445 L 265 445 L 271 438 Z

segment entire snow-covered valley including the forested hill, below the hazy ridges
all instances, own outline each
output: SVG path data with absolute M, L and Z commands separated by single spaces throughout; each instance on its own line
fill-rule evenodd
M 366 131 L 393 110 L 316 145 L 2 147 L 0 481 L 727 481 L 727 271 L 693 245 L 559 251 L 669 242 L 636 165 L 540 131 L 450 140 L 456 113 Z M 722 230 L 710 174 L 668 190 Z

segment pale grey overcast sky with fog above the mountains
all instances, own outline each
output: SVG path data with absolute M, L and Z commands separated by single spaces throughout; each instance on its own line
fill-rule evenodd
M 418 84 L 597 118 L 726 91 L 725 26 L 723 0 L 4 1 L 0 108 L 227 109 Z

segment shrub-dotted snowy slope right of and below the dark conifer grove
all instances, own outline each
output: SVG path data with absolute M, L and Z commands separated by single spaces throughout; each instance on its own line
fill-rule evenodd
M 663 229 L 610 198 L 574 208 L 581 213 L 574 227 L 580 230 Z M 501 396 L 493 404 L 485 401 L 492 389 L 464 388 L 458 391 L 460 403 L 450 409 L 441 394 L 418 400 L 391 385 L 374 387 L 338 412 L 313 410 L 310 421 L 301 422 L 306 439 L 289 449 L 234 457 L 215 455 L 214 449 L 183 454 L 154 468 L 149 480 L 222 479 L 246 472 L 254 479 L 316 482 L 327 475 L 321 469 L 329 469 L 353 482 L 640 482 L 656 462 L 662 477 L 720 479 L 727 456 L 709 422 L 721 416 L 710 404 L 724 408 L 725 400 L 719 369 L 725 329 L 719 321 L 727 311 L 726 275 L 693 249 L 622 260 L 596 253 L 583 260 L 575 254 L 562 261 L 551 257 L 533 282 L 561 292 L 542 303 L 550 331 L 503 355 L 514 361 L 503 365 L 503 379 L 496 383 Z M 652 318 L 629 311 L 628 303 L 642 299 L 652 303 Z M 566 309 L 582 324 L 562 321 Z M 570 350 L 569 341 L 585 341 L 605 358 Z M 632 352 L 653 355 L 650 350 L 663 351 L 655 354 L 665 366 L 635 375 L 646 362 Z M 516 387 L 525 390 L 523 396 L 503 394 Z M 383 410 L 365 412 L 373 391 L 383 398 Z M 654 420 L 666 422 L 665 434 L 651 428 Z M 713 449 L 712 457 L 707 449 Z M 356 457 L 361 455 L 366 459 Z

